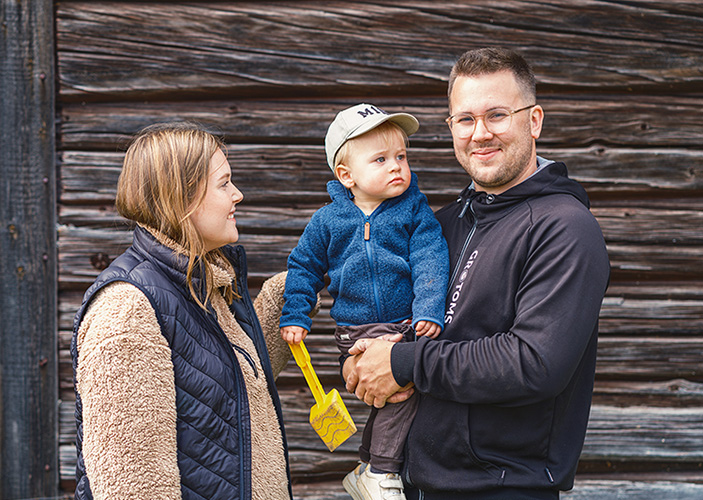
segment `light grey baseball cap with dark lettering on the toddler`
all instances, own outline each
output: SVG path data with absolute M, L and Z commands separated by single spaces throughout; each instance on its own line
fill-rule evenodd
M 420 128 L 420 124 L 413 115 L 387 113 L 373 104 L 357 104 L 337 113 L 325 136 L 325 152 L 330 168 L 334 171 L 334 159 L 345 142 L 387 121 L 396 123 L 408 136 Z

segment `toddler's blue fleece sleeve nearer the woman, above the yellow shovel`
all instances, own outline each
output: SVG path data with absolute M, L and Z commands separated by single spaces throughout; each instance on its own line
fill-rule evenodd
M 325 286 L 325 273 L 329 267 L 329 239 L 318 210 L 288 257 L 281 327 L 300 326 L 310 330 L 311 313 L 317 306 L 317 294 Z

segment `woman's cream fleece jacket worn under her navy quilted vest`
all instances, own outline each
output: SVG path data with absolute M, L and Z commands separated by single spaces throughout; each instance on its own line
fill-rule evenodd
M 214 268 L 218 287 L 234 277 L 231 267 L 222 264 Z M 284 284 L 285 273 L 274 276 L 254 301 L 275 376 L 290 358 L 278 329 Z M 222 295 L 216 294 L 212 305 L 223 331 L 256 361 L 259 374 L 234 350 L 252 416 L 252 498 L 288 499 L 283 440 L 260 359 Z M 180 500 L 171 351 L 146 296 L 128 283 L 106 286 L 84 316 L 77 345 L 83 454 L 94 497 Z

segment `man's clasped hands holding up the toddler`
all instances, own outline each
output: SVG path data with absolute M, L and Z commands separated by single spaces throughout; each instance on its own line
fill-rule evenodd
M 383 338 L 361 339 L 349 350 L 353 356 L 346 360 L 343 367 L 347 390 L 354 392 L 369 406 L 382 408 L 389 398 L 390 402 L 397 403 L 412 395 L 412 384 L 400 387 L 393 377 L 393 344 Z

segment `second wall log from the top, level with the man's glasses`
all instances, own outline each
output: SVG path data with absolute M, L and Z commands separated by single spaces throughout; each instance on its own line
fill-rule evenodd
M 231 143 L 319 145 L 335 114 L 356 100 L 215 100 L 67 103 L 61 108 L 61 149 L 115 151 L 156 122 L 202 123 Z M 448 147 L 447 99 L 382 97 L 374 104 L 406 111 L 420 121 L 411 146 Z M 540 94 L 545 111 L 542 146 L 700 147 L 703 102 L 698 96 Z

